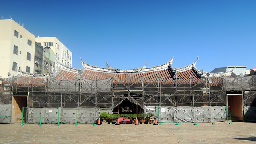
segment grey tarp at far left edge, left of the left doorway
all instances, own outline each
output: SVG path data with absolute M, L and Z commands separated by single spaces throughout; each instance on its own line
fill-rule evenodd
M 11 122 L 12 104 L 0 104 L 0 123 Z

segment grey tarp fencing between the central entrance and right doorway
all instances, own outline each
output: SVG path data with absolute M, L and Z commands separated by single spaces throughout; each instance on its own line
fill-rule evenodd
M 178 110 L 178 112 L 177 112 Z M 160 122 L 223 122 L 227 120 L 226 106 L 154 107 L 144 106 L 145 113 L 154 113 Z M 196 115 L 195 115 L 196 113 Z M 196 118 L 196 121 L 195 121 Z

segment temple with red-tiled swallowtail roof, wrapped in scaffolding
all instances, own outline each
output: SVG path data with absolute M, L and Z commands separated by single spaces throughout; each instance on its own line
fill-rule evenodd
M 82 59 L 82 68 L 75 69 L 57 61 L 54 72 L 20 72 L 2 80 L 0 104 L 12 108 L 8 122 L 22 117 L 22 107 L 29 123 L 39 122 L 35 112 L 41 122 L 41 110 L 47 115 L 44 123 L 57 123 L 55 118 L 49 120 L 50 111 L 60 113 L 58 122 L 93 123 L 101 112 L 120 114 L 124 108 L 136 114 L 158 113 L 160 122 L 222 122 L 228 112 L 236 120 L 255 121 L 251 113 L 256 106 L 255 76 L 237 76 L 236 67 L 218 73 L 200 71 L 197 61 L 173 68 L 172 58 L 159 66 L 135 69 L 113 68 L 107 62 L 102 68 Z

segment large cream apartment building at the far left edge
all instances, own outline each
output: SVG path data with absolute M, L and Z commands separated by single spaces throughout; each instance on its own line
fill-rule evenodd
M 34 71 L 35 36 L 12 19 L 0 20 L 0 76 Z

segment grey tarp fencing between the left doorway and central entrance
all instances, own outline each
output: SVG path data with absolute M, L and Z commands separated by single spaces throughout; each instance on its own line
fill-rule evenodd
M 28 123 L 40 123 L 40 112 L 41 123 L 57 123 L 58 112 L 61 123 L 94 123 L 102 112 L 112 114 L 111 108 L 28 108 Z

